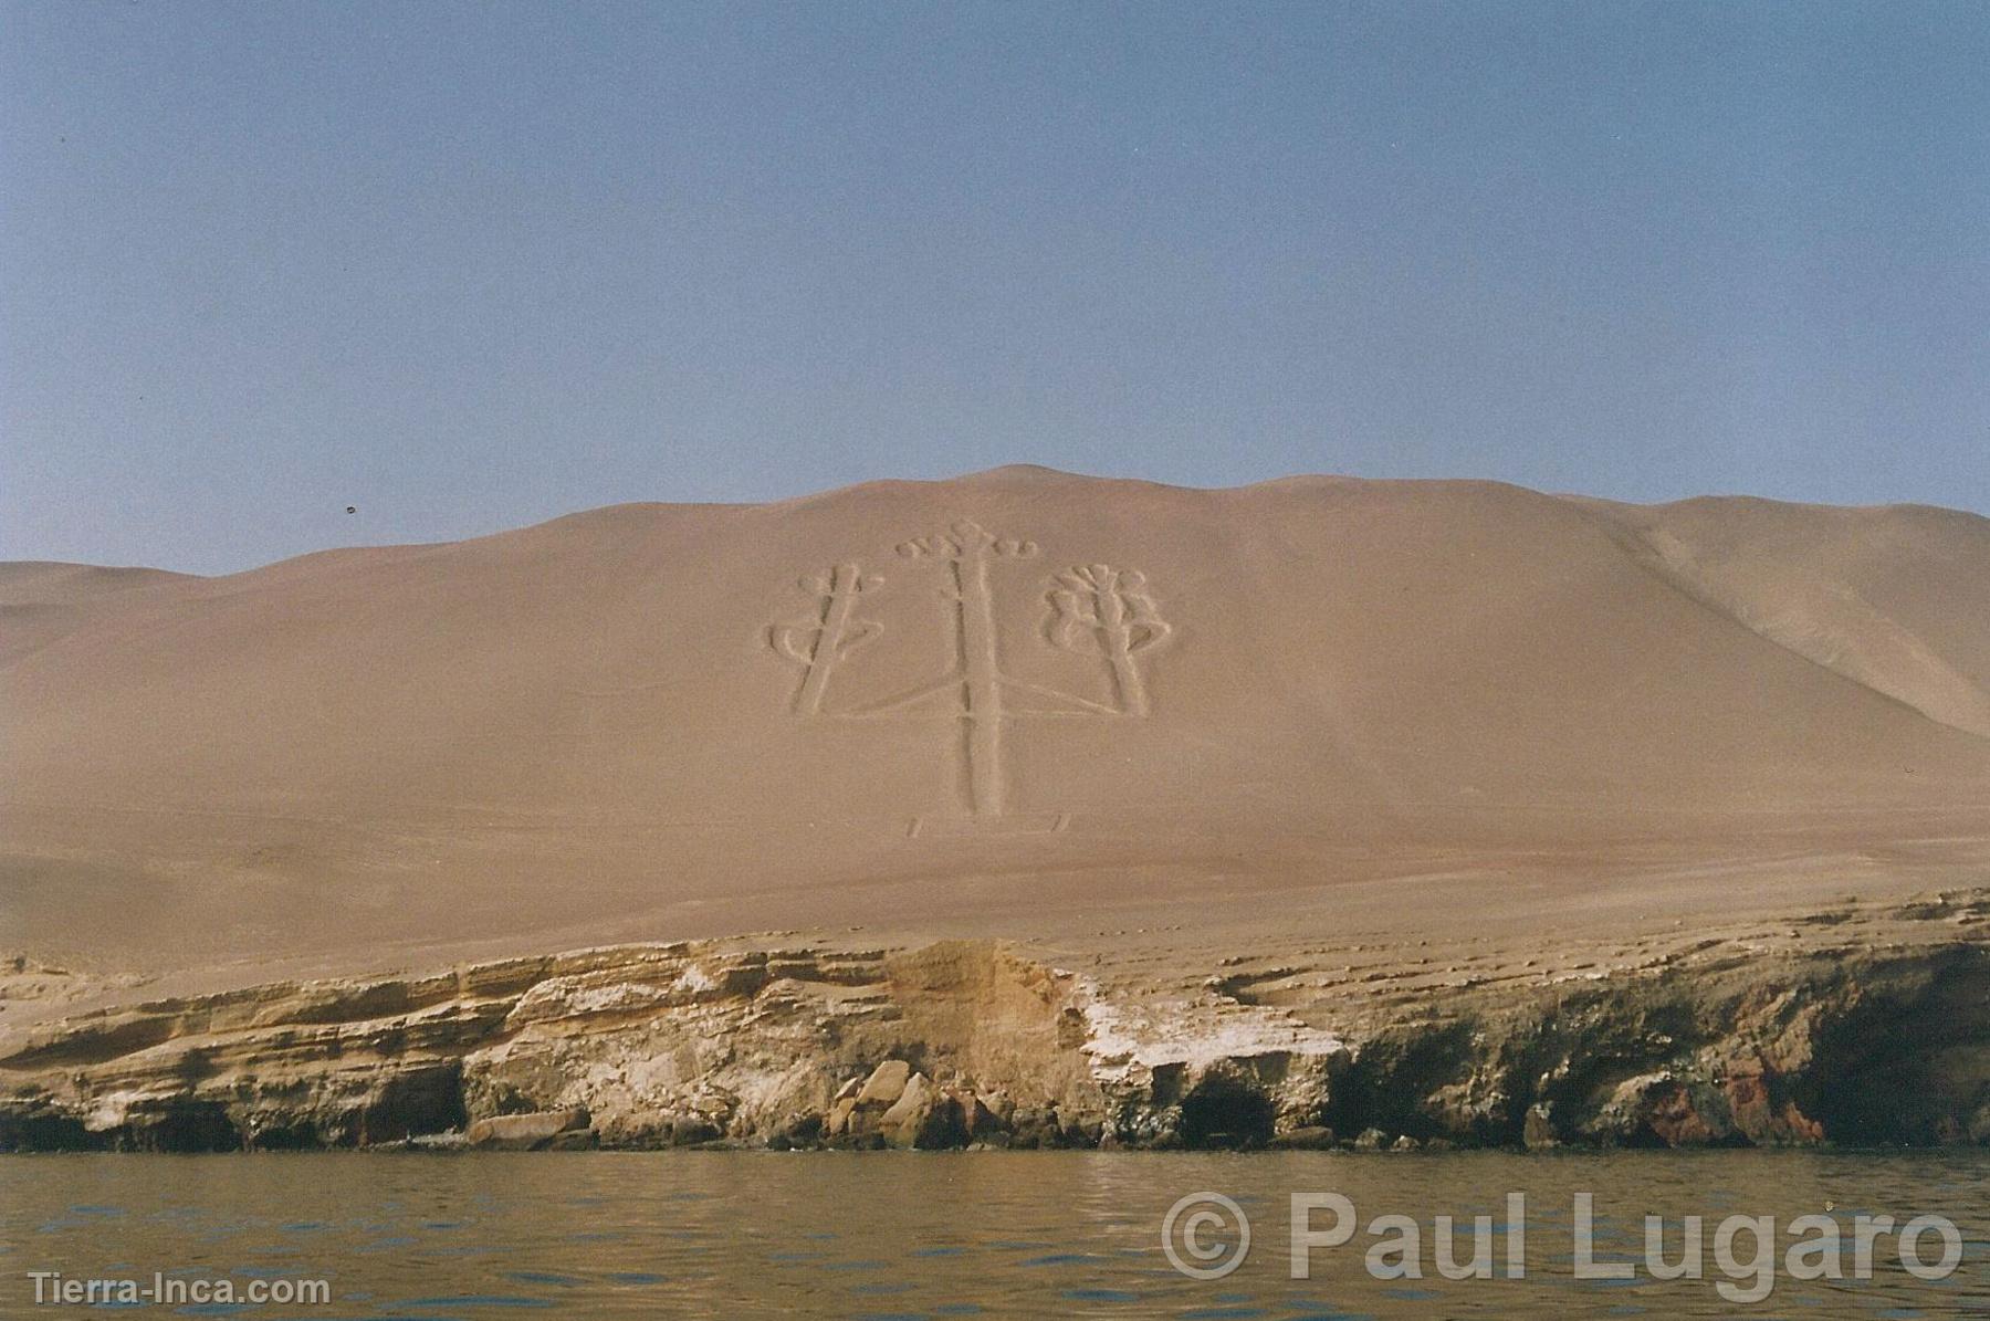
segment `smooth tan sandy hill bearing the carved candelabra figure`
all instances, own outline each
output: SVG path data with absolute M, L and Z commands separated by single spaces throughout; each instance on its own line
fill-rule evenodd
M 103 967 L 1335 887 L 1494 923 L 1990 853 L 1990 521 L 1928 507 L 997 470 L 4 565 L 0 625 L 8 945 Z

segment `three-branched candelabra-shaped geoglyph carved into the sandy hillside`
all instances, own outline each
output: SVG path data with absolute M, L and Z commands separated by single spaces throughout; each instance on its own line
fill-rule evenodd
M 919 702 L 951 694 L 951 702 L 931 714 L 961 726 L 961 786 L 971 822 L 1005 816 L 1001 764 L 1003 722 L 1017 716 L 1146 716 L 1152 698 L 1140 672 L 1140 657 L 1162 643 L 1172 629 L 1146 591 L 1146 579 L 1112 565 L 1075 565 L 1051 575 L 1045 593 L 1049 617 L 1041 641 L 1104 660 L 1112 700 L 1096 702 L 1075 692 L 1059 692 L 1011 678 L 1001 668 L 991 569 L 1003 561 L 1035 559 L 1035 541 L 997 537 L 979 523 L 961 519 L 949 533 L 903 541 L 897 553 L 909 561 L 945 567 L 947 619 L 953 631 L 953 664 L 947 672 L 921 680 L 903 692 L 856 708 L 828 706 L 830 676 L 858 647 L 884 633 L 884 625 L 858 619 L 858 599 L 884 585 L 856 563 L 836 565 L 824 575 L 802 579 L 802 589 L 818 597 L 818 609 L 800 623 L 774 625 L 768 645 L 802 666 L 794 694 L 796 716 L 890 716 Z M 1045 706 L 1049 704 L 1049 706 Z M 1071 814 L 1061 812 L 1043 830 L 1063 830 Z M 913 818 L 909 834 L 943 828 L 943 822 Z M 1023 826 L 1023 822 L 1017 822 Z

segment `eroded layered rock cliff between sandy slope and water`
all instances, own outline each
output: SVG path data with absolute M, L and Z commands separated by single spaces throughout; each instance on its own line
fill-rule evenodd
M 283 983 L 10 1033 L 0 1146 L 1982 1144 L 1986 923 L 1974 889 L 1496 967 L 734 941 Z

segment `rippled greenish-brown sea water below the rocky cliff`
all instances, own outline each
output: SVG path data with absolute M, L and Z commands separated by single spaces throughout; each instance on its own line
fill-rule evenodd
M 1220 1277 L 1182 1273 L 1162 1243 L 1170 1208 L 1196 1194 L 1222 1194 L 1250 1220 L 1250 1251 Z M 1317 1204 L 1301 1229 L 1349 1229 L 1309 1249 L 1305 1279 L 1294 1277 L 1294 1194 Z M 1576 1277 L 1576 1194 L 1592 1198 L 1596 1259 L 1632 1277 Z M 20 1156 L 0 1160 L 0 1208 L 6 1317 L 1990 1315 L 1990 1152 Z M 1385 1216 L 1409 1218 L 1415 1243 L 1401 1224 L 1373 1224 Z M 1453 1218 L 1445 1261 L 1463 1267 L 1475 1218 L 1491 1218 L 1491 1279 L 1439 1273 L 1439 1216 Z M 1701 1218 L 1699 1279 L 1652 1277 L 1646 1216 L 1664 1218 L 1674 1263 L 1682 1218 Z M 1771 1257 L 1737 1226 L 1723 1265 L 1715 1237 L 1733 1216 L 1775 1218 Z M 1787 1226 L 1799 1216 L 1841 1227 L 1845 1279 L 1793 1277 L 1799 1235 Z M 1879 1235 L 1871 1279 L 1857 1279 L 1859 1216 L 1946 1218 L 1960 1259 L 1922 1279 L 1898 1237 Z M 1817 1224 L 1803 1237 L 1827 1241 Z M 1176 1214 L 1184 1265 L 1222 1265 L 1236 1243 L 1228 1208 Z M 1924 1273 L 1950 1251 L 1940 1227 L 1916 1245 Z M 1403 1269 L 1411 1259 L 1421 1277 Z M 1829 1261 L 1819 1247 L 1797 1265 Z M 187 1283 L 167 1301 L 38 1305 L 36 1271 L 44 1289 L 52 1271 Z M 185 1291 L 295 1279 L 326 1281 L 330 1299 L 279 1307 Z M 1721 1291 L 1763 1283 L 1759 1301 Z

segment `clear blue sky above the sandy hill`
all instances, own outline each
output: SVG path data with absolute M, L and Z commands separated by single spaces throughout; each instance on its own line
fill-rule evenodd
M 1007 462 L 1990 511 L 1986 70 L 1974 2 L 0 0 L 0 557 Z

